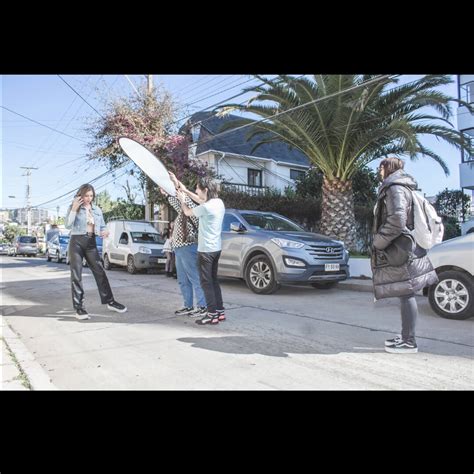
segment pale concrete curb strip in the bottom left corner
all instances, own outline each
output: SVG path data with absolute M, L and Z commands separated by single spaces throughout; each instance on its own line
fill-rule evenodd
M 20 337 L 13 332 L 5 319 L 3 320 L 2 331 L 3 339 L 28 378 L 32 390 L 57 390 L 57 387 L 51 382 L 51 379 L 35 360 L 33 354 L 21 342 Z

